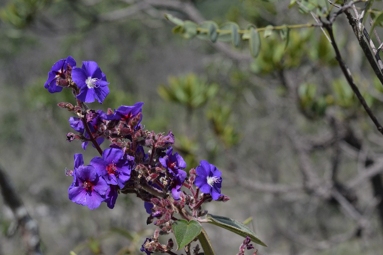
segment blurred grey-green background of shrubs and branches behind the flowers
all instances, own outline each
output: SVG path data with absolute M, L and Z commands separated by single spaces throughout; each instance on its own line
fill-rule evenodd
M 208 160 L 222 171 L 222 192 L 231 199 L 206 209 L 252 217 L 249 227 L 268 245 L 256 245 L 259 254 L 380 254 L 383 137 L 320 29 L 291 29 L 288 41 L 279 31 L 261 33 L 254 59 L 246 42 L 236 49 L 173 34 L 165 13 L 243 29 L 314 23 L 288 1 L 0 1 L 0 165 L 38 222 L 43 253 L 141 254 L 155 229 L 133 195 L 119 195 L 112 210 L 68 199 L 65 167 L 73 168 L 75 153 L 85 164 L 97 155 L 65 141 L 72 115 L 57 103 L 74 103 L 70 90 L 44 89 L 52 65 L 72 56 L 78 67 L 96 61 L 110 82 L 104 103 L 90 108 L 142 101 L 141 123 L 156 133 L 172 130 L 187 170 Z M 363 96 L 383 119 L 383 87 L 345 17 L 334 30 Z M 0 199 L 0 254 L 25 253 L 20 233 L 8 231 L 12 224 Z M 243 241 L 218 227 L 206 231 L 216 254 L 236 254 Z

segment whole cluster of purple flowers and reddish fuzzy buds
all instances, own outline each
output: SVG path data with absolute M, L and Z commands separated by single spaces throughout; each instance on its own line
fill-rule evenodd
M 50 93 L 72 89 L 77 104 L 58 104 L 75 114 L 69 118 L 69 125 L 76 133 L 68 133 L 67 141 L 82 141 L 84 150 L 91 143 L 100 154 L 89 165 L 84 165 L 82 154 L 74 155 L 74 168 L 67 171 L 73 177 L 68 189 L 71 201 L 89 209 L 98 208 L 102 202 L 114 208 L 118 194 L 135 193 L 145 202 L 147 223 L 166 233 L 172 231 L 173 214 L 198 219 L 206 213 L 201 209 L 202 203 L 229 199 L 221 194 L 222 178 L 217 167 L 203 160 L 187 173 L 185 160 L 173 152 L 172 132 L 155 134 L 143 129 L 144 103 L 121 105 L 114 111 L 108 108 L 106 112 L 89 109 L 85 103 L 95 100 L 103 103 L 109 94 L 109 83 L 96 62 L 82 63 L 81 68 L 76 67 L 71 56 L 59 60 L 52 66 L 44 85 Z M 110 141 L 109 148 L 101 149 L 105 140 Z M 190 210 L 183 209 L 185 206 Z M 161 245 L 157 240 L 159 232 L 156 233 L 153 239 L 146 239 L 142 252 L 172 249 L 171 239 L 167 245 Z

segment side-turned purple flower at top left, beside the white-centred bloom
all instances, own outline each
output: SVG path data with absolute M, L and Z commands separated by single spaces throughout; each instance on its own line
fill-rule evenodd
M 48 92 L 61 92 L 62 87 L 56 84 L 57 79 L 65 80 L 65 74 L 72 70 L 74 67 L 76 67 L 76 61 L 71 56 L 68 56 L 66 59 L 60 59 L 57 61 L 52 66 L 51 72 L 48 73 L 48 79 L 44 84 L 44 87 L 48 89 Z

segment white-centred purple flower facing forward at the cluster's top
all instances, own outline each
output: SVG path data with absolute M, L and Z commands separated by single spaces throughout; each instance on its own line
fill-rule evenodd
M 102 104 L 109 94 L 106 76 L 94 61 L 83 61 L 82 67 L 72 70 L 72 80 L 80 88 L 77 99 L 85 103 L 92 103 L 97 99 Z

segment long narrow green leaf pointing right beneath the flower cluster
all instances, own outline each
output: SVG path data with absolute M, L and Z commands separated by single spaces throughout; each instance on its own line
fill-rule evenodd
M 207 214 L 206 219 L 209 220 L 209 223 L 230 230 L 231 232 L 241 235 L 242 237 L 246 237 L 248 235 L 250 239 L 256 244 L 267 246 L 266 244 L 264 244 L 264 242 L 262 242 L 259 239 L 259 237 L 257 237 L 257 235 L 255 235 L 255 233 L 251 229 L 249 229 L 249 227 L 244 225 L 242 222 L 230 219 L 228 217 L 216 216 L 211 214 Z

